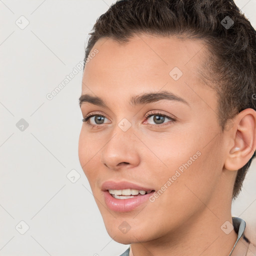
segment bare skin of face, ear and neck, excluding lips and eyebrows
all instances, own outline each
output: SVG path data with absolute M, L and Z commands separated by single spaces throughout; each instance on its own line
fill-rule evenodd
M 105 116 L 92 128 L 83 122 L 78 155 L 108 234 L 131 244 L 134 255 L 228 255 L 237 234 L 220 228 L 232 223 L 231 197 L 236 170 L 256 148 L 255 111 L 247 108 L 221 131 L 217 96 L 200 78 L 207 50 L 199 40 L 180 40 L 148 34 L 134 35 L 119 44 L 99 39 L 98 53 L 85 65 L 82 94 L 99 96 L 106 107 L 83 102 L 83 117 L 93 111 Z M 175 81 L 169 72 L 178 67 Z M 185 99 L 131 106 L 131 96 L 167 90 Z M 176 118 L 155 122 L 145 115 L 154 110 Z M 126 118 L 127 131 L 118 123 Z M 91 124 L 96 124 L 94 117 Z M 155 124 L 154 127 L 150 124 Z M 234 151 L 235 147 L 239 147 Z M 128 212 L 107 208 L 101 184 L 106 180 L 130 181 L 158 191 L 197 151 L 201 154 L 157 198 Z M 126 221 L 130 230 L 118 226 Z

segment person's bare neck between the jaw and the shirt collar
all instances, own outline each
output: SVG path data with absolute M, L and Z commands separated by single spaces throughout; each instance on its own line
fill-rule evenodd
M 131 255 L 228 256 L 237 234 L 233 229 L 229 234 L 223 231 L 227 232 L 228 224 L 223 230 L 220 228 L 227 220 L 232 224 L 230 209 L 215 215 L 205 207 L 199 215 L 182 223 L 178 230 L 151 241 L 132 243 Z

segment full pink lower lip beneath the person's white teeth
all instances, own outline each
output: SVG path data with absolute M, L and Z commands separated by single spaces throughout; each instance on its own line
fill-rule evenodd
M 152 191 L 148 194 L 138 195 L 128 199 L 117 199 L 117 198 L 114 198 L 107 190 L 103 192 L 104 192 L 106 206 L 110 210 L 122 211 L 122 212 L 130 211 L 137 208 L 144 202 L 148 201 L 149 200 L 148 198 L 154 193 L 154 191 Z

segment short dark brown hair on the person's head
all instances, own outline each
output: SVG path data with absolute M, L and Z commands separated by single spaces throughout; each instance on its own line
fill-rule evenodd
M 200 39 L 206 45 L 200 75 L 217 93 L 222 131 L 230 127 L 227 120 L 243 109 L 256 109 L 256 31 L 233 0 L 118 0 L 97 18 L 89 33 L 84 66 L 98 39 L 125 43 L 139 33 Z M 239 194 L 254 156 L 255 152 L 238 169 L 232 199 Z

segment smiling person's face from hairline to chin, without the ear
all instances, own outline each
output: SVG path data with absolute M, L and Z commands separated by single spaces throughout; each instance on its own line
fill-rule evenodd
M 141 34 L 125 44 L 101 38 L 91 50 L 79 161 L 117 242 L 182 229 L 219 200 L 222 133 L 217 96 L 198 75 L 203 45 Z

